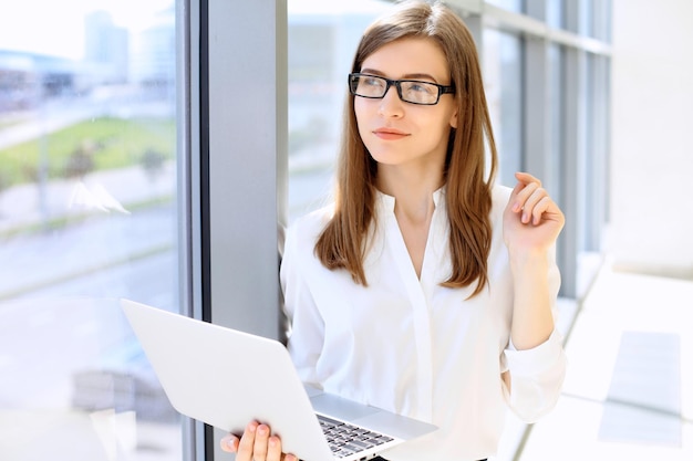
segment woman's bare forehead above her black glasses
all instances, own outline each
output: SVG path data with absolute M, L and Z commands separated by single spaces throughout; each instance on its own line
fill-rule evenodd
M 428 74 L 436 81 L 449 78 L 449 66 L 443 50 L 433 39 L 400 39 L 368 55 L 361 71 L 379 71 L 391 78 Z

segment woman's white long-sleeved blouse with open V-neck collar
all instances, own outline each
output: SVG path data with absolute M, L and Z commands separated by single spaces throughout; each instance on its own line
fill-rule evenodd
M 289 352 L 306 383 L 343 397 L 436 425 L 439 429 L 383 453 L 392 461 L 466 461 L 496 453 L 506 404 L 532 422 L 558 399 L 566 358 L 560 335 L 529 350 L 510 344 L 513 279 L 503 241 L 510 189 L 495 187 L 488 286 L 441 286 L 451 274 L 445 190 L 436 205 L 421 279 L 394 216 L 394 198 L 377 195 L 369 286 L 330 271 L 313 248 L 331 209 L 289 229 L 281 264 Z M 550 286 L 560 285 L 551 255 Z M 509 370 L 511 391 L 500 378 Z

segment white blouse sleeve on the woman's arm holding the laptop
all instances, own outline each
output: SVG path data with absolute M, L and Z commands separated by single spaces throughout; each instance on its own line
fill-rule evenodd
M 279 273 L 289 323 L 287 347 L 301 380 L 320 388 L 317 364 L 323 348 L 324 323 L 301 268 L 301 261 L 312 258 L 312 243 L 301 234 L 289 229 Z M 310 247 L 311 252 L 301 254 L 301 247 Z

